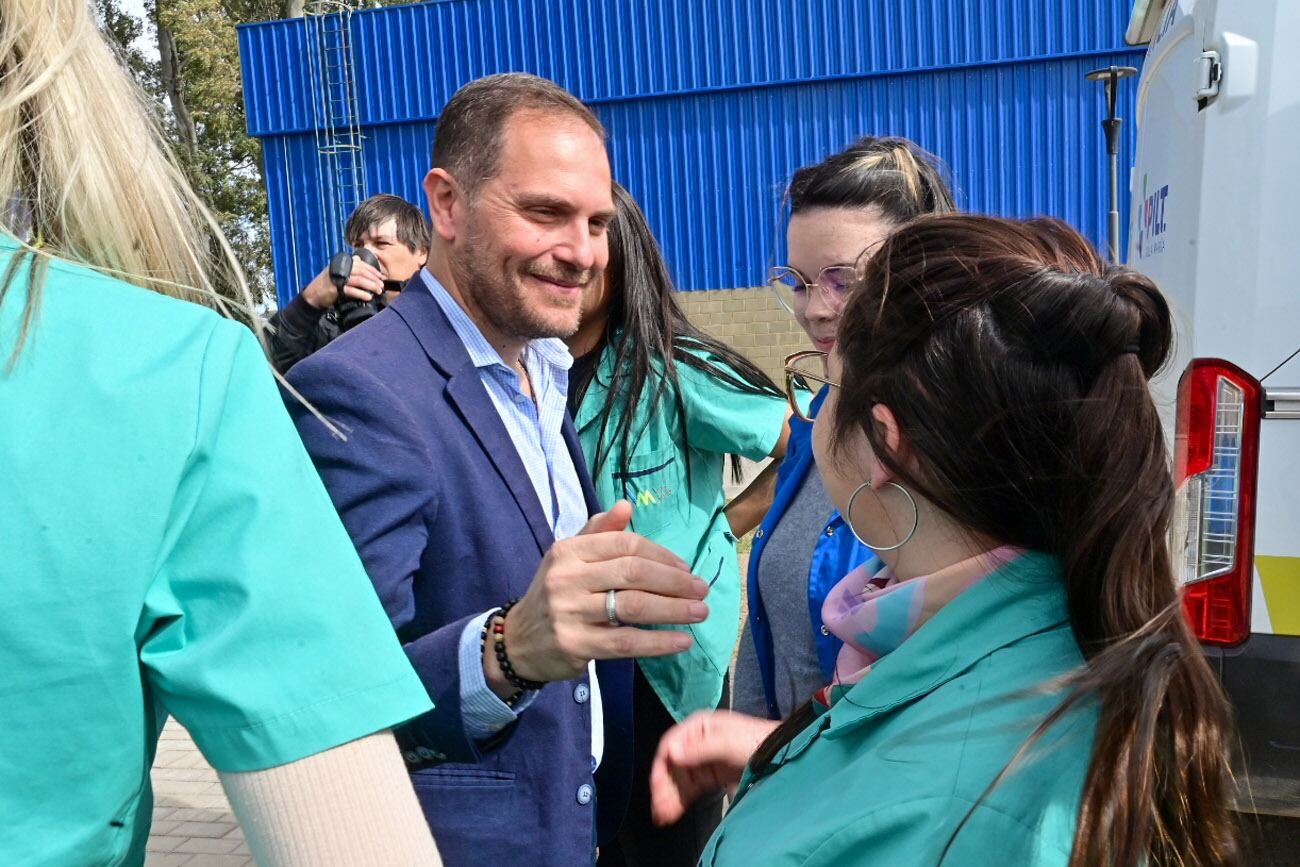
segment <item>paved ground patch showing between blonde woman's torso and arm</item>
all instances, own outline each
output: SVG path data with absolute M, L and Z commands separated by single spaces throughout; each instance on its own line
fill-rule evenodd
M 243 833 L 217 781 L 176 720 L 168 720 L 153 762 L 153 828 L 146 867 L 246 867 Z

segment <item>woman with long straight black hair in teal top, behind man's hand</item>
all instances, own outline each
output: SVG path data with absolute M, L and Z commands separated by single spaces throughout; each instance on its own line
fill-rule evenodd
M 632 802 L 601 863 L 673 867 L 696 862 L 722 815 L 720 790 L 656 829 L 650 762 L 668 727 L 725 698 L 740 629 L 736 539 L 772 502 L 775 467 L 725 503 L 727 455 L 784 455 L 789 409 L 749 360 L 690 325 L 641 208 L 618 183 L 614 204 L 606 277 L 568 341 L 569 407 L 601 502 L 630 500 L 630 529 L 682 558 L 710 590 L 708 619 L 689 627 L 690 650 L 637 660 Z

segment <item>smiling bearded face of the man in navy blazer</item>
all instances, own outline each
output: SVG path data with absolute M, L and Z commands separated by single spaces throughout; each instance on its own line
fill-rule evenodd
M 497 175 L 467 203 L 448 263 L 502 335 L 577 330 L 582 295 L 610 259 L 610 187 L 604 146 L 581 120 L 525 110 L 506 122 Z

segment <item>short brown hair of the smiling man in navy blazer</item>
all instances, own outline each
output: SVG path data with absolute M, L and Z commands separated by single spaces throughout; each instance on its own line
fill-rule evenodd
M 502 130 L 519 112 L 575 117 L 604 140 L 604 127 L 577 96 L 528 73 L 469 82 L 447 100 L 433 134 L 433 168 L 446 169 L 473 196 L 497 174 Z

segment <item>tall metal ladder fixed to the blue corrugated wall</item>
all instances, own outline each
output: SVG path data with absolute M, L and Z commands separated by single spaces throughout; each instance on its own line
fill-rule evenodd
M 360 5 L 355 0 L 309 0 L 303 16 L 321 181 L 321 237 L 328 252 L 343 248 L 347 217 L 365 199 L 364 136 L 352 61 L 352 12 Z

